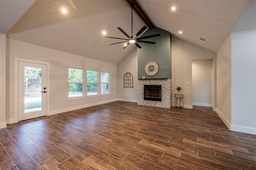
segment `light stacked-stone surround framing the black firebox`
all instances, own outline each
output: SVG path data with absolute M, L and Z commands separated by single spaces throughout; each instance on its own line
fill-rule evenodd
M 144 100 L 144 85 L 162 85 L 162 102 Z M 172 107 L 172 80 L 171 79 L 144 79 L 138 80 L 138 105 L 154 107 Z

